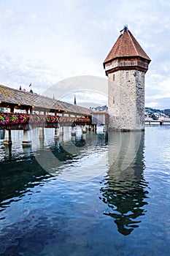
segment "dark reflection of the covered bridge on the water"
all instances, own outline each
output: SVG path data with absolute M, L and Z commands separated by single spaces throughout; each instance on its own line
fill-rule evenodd
M 47 129 L 45 137 L 39 138 L 39 128 L 34 129 L 31 138 L 34 143 L 31 147 L 23 148 L 20 140 L 22 131 L 12 131 L 14 143 L 4 146 L 4 130 L 0 131 L 0 211 L 10 205 L 12 201 L 20 200 L 32 188 L 43 186 L 50 178 L 68 178 L 67 166 L 76 170 L 77 177 L 73 177 L 69 170 L 69 179 L 81 181 L 93 177 L 87 165 L 94 165 L 89 157 L 96 154 L 101 159 L 104 155 L 105 135 L 96 135 L 94 132 L 82 134 L 77 128 L 77 135 L 71 136 L 70 127 L 64 127 L 64 132 L 54 140 L 53 129 Z M 86 165 L 76 168 L 74 164 L 85 159 Z M 98 161 L 98 159 L 96 159 Z M 86 173 L 85 173 L 86 171 Z M 75 174 L 75 173 L 74 173 Z M 98 173 L 97 173 L 98 174 Z M 81 176 L 82 175 L 82 176 Z M 96 173 L 95 173 L 96 175 Z

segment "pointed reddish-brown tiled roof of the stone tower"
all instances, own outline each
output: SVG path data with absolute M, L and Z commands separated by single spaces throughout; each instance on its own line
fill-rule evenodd
M 129 56 L 139 56 L 150 61 L 149 56 L 147 56 L 147 53 L 144 52 L 139 42 L 137 42 L 133 34 L 131 34 L 131 31 L 128 30 L 128 27 L 125 27 L 123 30 L 123 34 L 120 34 L 115 45 L 113 45 L 112 49 L 109 51 L 107 58 L 104 60 L 104 64 L 112 61 L 112 59 Z

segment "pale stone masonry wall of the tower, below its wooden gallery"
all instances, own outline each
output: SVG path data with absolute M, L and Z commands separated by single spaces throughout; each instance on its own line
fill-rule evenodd
M 119 70 L 108 78 L 108 129 L 144 129 L 144 72 Z

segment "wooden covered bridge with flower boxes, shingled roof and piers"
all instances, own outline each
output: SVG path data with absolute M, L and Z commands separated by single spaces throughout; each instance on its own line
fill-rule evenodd
M 43 133 L 44 128 L 55 128 L 57 138 L 60 127 L 72 127 L 74 135 L 76 125 L 85 127 L 87 124 L 91 124 L 88 108 L 0 86 L 0 129 L 6 131 L 4 143 L 12 143 L 12 129 L 23 129 L 23 146 L 27 146 L 31 143 L 28 140 L 29 129 L 41 127 Z

